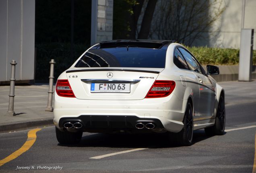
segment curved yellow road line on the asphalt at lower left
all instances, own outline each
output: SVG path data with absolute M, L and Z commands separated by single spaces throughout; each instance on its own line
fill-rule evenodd
M 33 129 L 29 131 L 29 133 L 27 133 L 27 141 L 23 144 L 23 146 L 14 153 L 7 156 L 6 158 L 0 160 L 0 166 L 4 165 L 5 163 L 13 159 L 16 159 L 17 157 L 28 151 L 30 147 L 32 147 L 32 145 L 35 143 L 35 140 L 37 139 L 36 133 L 40 130 L 41 129 Z

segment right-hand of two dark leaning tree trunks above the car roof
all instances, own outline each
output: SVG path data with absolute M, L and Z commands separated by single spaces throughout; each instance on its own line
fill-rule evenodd
M 147 39 L 149 36 L 151 21 L 153 18 L 153 14 L 155 11 L 155 6 L 157 4 L 157 0 L 149 0 L 143 19 L 140 27 L 140 32 L 138 34 L 138 39 Z

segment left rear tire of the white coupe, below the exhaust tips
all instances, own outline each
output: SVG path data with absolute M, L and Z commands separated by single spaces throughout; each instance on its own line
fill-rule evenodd
M 55 127 L 55 131 L 57 140 L 62 145 L 78 144 L 81 141 L 83 135 L 83 131 L 72 133 L 68 131 L 60 131 L 57 127 Z

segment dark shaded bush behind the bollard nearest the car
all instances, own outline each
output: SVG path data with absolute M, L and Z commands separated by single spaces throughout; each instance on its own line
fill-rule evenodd
M 74 61 L 83 53 L 89 45 L 74 45 L 74 59 L 70 58 L 70 43 L 50 43 L 37 44 L 36 47 L 36 66 L 35 80 L 49 80 L 50 60 L 54 59 L 54 77 L 58 76 L 70 67 Z

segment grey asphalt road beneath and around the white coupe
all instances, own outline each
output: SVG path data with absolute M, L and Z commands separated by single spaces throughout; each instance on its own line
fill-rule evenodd
M 190 147 L 170 146 L 165 135 L 91 133 L 84 133 L 79 145 L 61 146 L 54 127 L 46 127 L 37 132 L 37 139 L 28 151 L 0 166 L 0 172 L 252 173 L 256 101 L 239 102 L 235 96 L 227 97 L 230 97 L 226 105 L 227 133 L 207 137 L 203 130 L 195 131 Z M 239 129 L 242 127 L 247 129 Z M 21 148 L 28 131 L 0 134 L 0 159 Z M 132 149 L 138 150 L 91 158 Z

